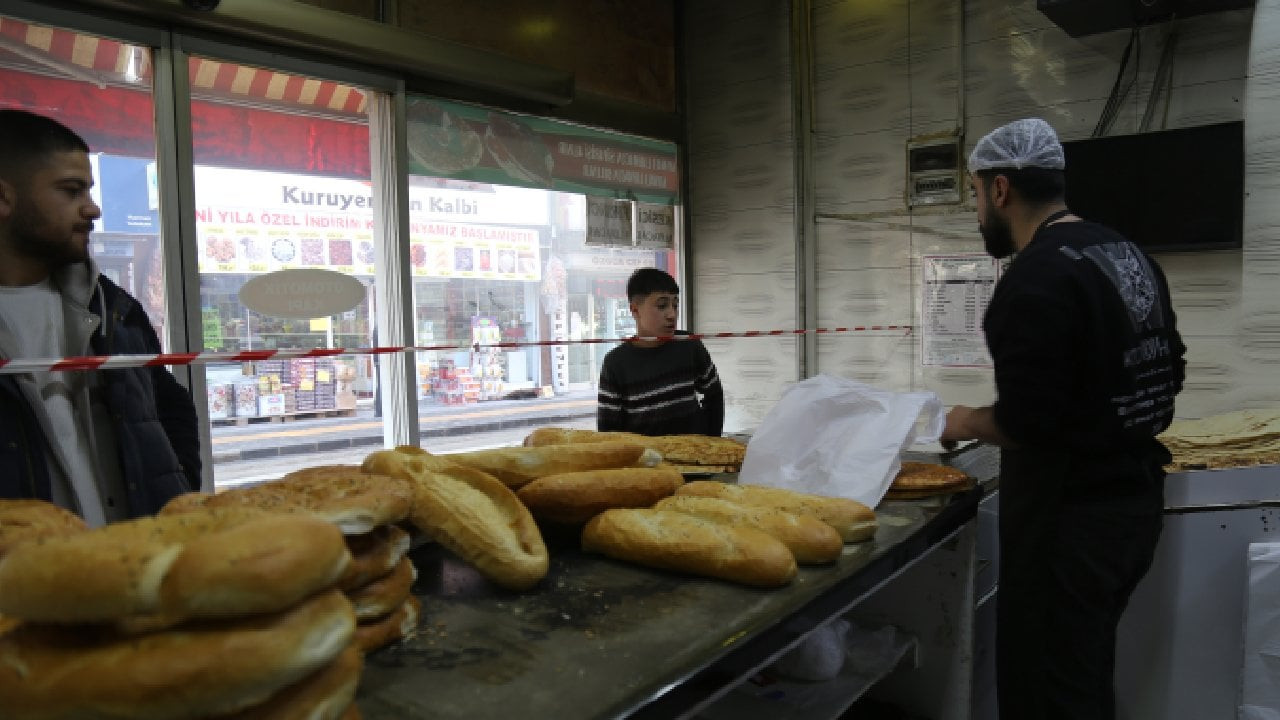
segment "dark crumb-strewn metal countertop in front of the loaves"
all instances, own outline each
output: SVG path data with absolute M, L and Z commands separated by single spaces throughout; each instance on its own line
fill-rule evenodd
M 419 633 L 366 659 L 356 701 L 369 720 L 675 717 L 948 537 L 979 496 L 886 503 L 873 541 L 780 589 L 584 553 L 566 530 L 545 536 L 541 584 L 513 593 L 429 543 L 410 553 Z

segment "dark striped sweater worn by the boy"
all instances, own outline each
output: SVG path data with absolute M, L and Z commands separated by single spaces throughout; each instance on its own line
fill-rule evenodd
M 658 347 L 623 343 L 604 356 L 599 430 L 718 437 L 723 425 L 724 391 L 701 341 L 672 341 Z

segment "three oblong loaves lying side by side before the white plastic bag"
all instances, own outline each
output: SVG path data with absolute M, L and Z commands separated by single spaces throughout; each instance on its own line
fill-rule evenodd
M 846 542 L 876 534 L 865 505 L 716 480 L 686 483 L 652 509 L 608 510 L 582 529 L 582 548 L 663 570 L 780 587 L 796 565 L 835 562 Z

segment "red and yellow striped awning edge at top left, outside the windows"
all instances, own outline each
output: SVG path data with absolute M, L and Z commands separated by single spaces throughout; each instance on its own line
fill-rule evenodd
M 77 79 L 147 83 L 151 53 L 92 35 L 0 18 L 0 50 Z M 340 115 L 364 115 L 365 94 L 349 85 L 275 70 L 192 58 L 192 92 L 223 100 L 243 99 Z

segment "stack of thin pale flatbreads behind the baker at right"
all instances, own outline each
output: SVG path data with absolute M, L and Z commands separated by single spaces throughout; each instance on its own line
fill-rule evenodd
M 1280 410 L 1175 420 L 1158 439 L 1174 456 L 1171 470 L 1275 465 L 1280 464 Z

